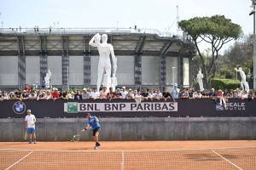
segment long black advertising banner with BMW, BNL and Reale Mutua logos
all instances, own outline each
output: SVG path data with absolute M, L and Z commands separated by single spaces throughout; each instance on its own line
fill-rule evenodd
M 256 99 L 229 99 L 225 105 L 213 99 L 147 100 L 136 104 L 133 99 L 82 100 L 4 100 L 0 117 L 25 117 L 32 110 L 36 117 L 82 117 L 86 113 L 99 117 L 134 116 L 256 116 Z

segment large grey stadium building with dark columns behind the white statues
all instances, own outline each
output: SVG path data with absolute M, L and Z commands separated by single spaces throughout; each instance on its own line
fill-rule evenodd
M 108 34 L 117 57 L 118 87 L 179 88 L 192 86 L 195 45 L 189 37 L 132 28 L 2 29 L 0 88 L 24 88 L 41 83 L 51 71 L 57 88 L 96 87 L 99 54 L 89 41 Z M 183 35 L 186 35 L 183 33 Z

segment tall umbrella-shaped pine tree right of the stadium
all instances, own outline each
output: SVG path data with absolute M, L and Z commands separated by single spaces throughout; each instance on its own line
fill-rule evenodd
M 230 19 L 226 19 L 224 15 L 214 15 L 212 17 L 195 17 L 190 20 L 181 20 L 178 25 L 183 31 L 193 38 L 195 47 L 201 59 L 202 73 L 204 74 L 204 82 L 209 82 L 209 75 L 212 72 L 212 78 L 216 76 L 219 50 L 227 42 L 241 37 L 241 26 L 232 23 Z M 211 44 L 211 60 L 209 66 L 205 65 L 205 58 L 198 47 L 200 42 Z

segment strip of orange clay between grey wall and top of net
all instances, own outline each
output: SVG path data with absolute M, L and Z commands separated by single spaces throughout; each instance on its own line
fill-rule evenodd
M 200 141 L 100 141 L 99 150 L 180 150 L 256 146 L 256 140 Z M 0 142 L 0 149 L 18 150 L 94 150 L 95 143 L 79 142 Z

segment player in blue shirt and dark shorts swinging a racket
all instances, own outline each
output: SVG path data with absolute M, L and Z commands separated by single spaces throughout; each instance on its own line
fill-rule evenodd
M 100 143 L 98 143 L 99 139 L 99 132 L 100 132 L 100 121 L 96 116 L 91 116 L 90 113 L 87 113 L 86 118 L 88 118 L 87 121 L 87 127 L 85 127 L 81 133 L 84 133 L 85 130 L 88 130 L 92 127 L 92 132 L 93 132 L 93 141 L 96 142 L 95 148 L 94 149 L 98 149 L 99 146 L 101 146 Z

